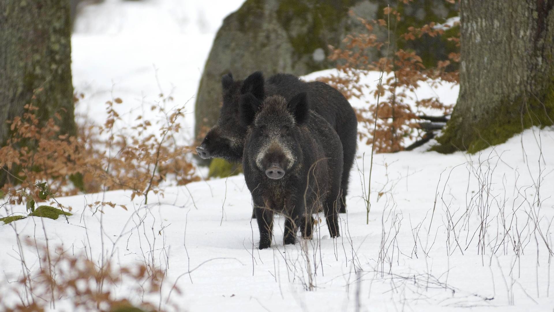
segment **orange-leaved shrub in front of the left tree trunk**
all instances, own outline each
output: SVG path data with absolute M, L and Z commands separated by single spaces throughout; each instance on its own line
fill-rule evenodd
M 198 180 L 192 148 L 175 139 L 184 106 L 166 111 L 163 104 L 171 100 L 162 95 L 161 103 L 152 105 L 165 116 L 157 122 L 139 117 L 131 127 L 116 127 L 122 124 L 116 110 L 122 100 L 114 98 L 106 102 L 104 125 L 79 127 L 75 137 L 58 135 L 53 119 L 41 125 L 37 108 L 25 105 L 22 117 L 11 121 L 12 137 L 0 148 L 0 170 L 7 174 L 2 192 L 12 203 L 29 197 L 38 202 L 36 183 L 47 182 L 51 194 L 127 189 L 147 203 L 150 192 L 163 194 L 160 183 L 168 176 L 176 184 Z

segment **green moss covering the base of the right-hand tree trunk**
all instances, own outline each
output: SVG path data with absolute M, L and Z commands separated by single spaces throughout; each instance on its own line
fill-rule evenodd
M 431 148 L 439 153 L 453 153 L 466 150 L 473 154 L 506 142 L 523 130 L 547 127 L 554 122 L 554 74 L 542 96 L 520 96 L 515 100 L 502 100 L 494 113 L 494 118 L 484 120 L 473 127 L 461 127 L 461 118 L 453 115 L 444 133 L 437 138 L 439 145 Z

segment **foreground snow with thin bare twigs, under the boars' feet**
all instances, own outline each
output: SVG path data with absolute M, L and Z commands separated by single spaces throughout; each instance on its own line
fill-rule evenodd
M 97 261 L 102 250 L 115 250 L 120 265 L 151 261 L 153 253 L 170 285 L 214 259 L 178 280 L 183 310 L 551 311 L 554 131 L 526 130 L 476 155 L 376 155 L 366 224 L 368 151 L 358 151 L 363 171 L 352 171 L 342 236 L 330 239 L 322 222 L 305 241 L 307 256 L 300 244 L 283 245 L 282 218 L 272 248 L 256 249 L 239 175 L 167 188 L 147 206 L 124 191 L 58 198 L 73 208 L 69 224 L 33 217 L 0 226 L 0 267 L 6 280 L 20 277 L 17 232 L 75 254 L 86 249 Z M 128 210 L 106 206 L 94 214 L 86 204 L 96 201 Z M 25 247 L 24 258 L 38 269 L 34 248 Z

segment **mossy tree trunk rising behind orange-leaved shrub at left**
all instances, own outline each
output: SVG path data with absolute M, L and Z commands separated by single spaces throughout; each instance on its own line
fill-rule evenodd
M 60 134 L 75 134 L 70 39 L 69 0 L 0 1 L 0 146 L 26 104 L 40 122 L 54 118 Z

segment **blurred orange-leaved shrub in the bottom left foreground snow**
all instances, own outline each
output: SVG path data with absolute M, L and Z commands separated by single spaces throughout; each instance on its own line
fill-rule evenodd
M 148 270 L 146 265 L 114 265 L 90 260 L 87 255 L 72 255 L 63 246 L 50 252 L 47 246 L 38 246 L 27 240 L 40 254 L 39 270 L 24 274 L 0 291 L 2 311 L 40 312 L 62 304 L 71 311 L 181 311 L 179 304 L 171 300 L 170 293 L 163 298 L 162 286 L 165 272 Z M 166 286 L 166 288 L 169 286 Z M 119 289 L 120 291 L 116 291 Z M 177 295 L 176 285 L 171 290 Z M 19 302 L 1 300 L 11 293 Z M 134 297 L 131 296 L 134 295 Z M 159 301 L 157 304 L 156 301 Z M 137 308 L 140 307 L 140 308 Z

